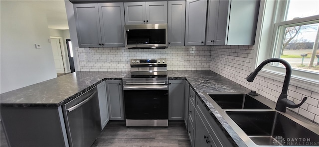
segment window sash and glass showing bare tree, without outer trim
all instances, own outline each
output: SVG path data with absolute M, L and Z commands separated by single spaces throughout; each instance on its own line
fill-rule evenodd
M 319 54 L 319 37 L 316 38 L 319 0 L 289 0 L 284 4 L 283 21 L 275 23 L 276 45 L 272 57 L 288 61 L 296 70 L 319 73 L 319 58 L 316 57 Z

